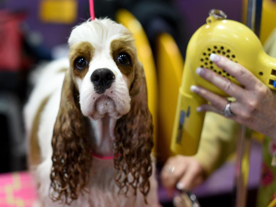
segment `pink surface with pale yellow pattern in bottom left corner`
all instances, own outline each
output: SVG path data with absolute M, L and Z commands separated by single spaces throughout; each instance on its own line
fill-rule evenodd
M 36 198 L 35 184 L 30 173 L 0 174 L 1 207 L 30 207 Z

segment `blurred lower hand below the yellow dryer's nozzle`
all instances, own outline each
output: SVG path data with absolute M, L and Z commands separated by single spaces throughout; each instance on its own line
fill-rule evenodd
M 179 190 L 190 190 L 201 184 L 205 172 L 198 160 L 190 156 L 176 155 L 168 158 L 161 171 L 161 181 L 170 196 L 175 187 Z

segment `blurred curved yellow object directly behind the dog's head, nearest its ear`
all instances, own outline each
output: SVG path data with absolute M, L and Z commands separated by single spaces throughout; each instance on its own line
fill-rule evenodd
M 116 20 L 133 33 L 138 60 L 143 64 L 144 67 L 147 82 L 148 106 L 152 114 L 152 121 L 154 125 L 154 152 L 156 152 L 158 97 L 156 70 L 150 43 L 147 40 L 147 35 L 144 32 L 140 22 L 129 11 L 120 9 L 116 14 Z

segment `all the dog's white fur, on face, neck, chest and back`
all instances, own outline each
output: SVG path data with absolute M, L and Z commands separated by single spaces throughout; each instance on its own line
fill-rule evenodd
M 122 75 L 116 63 L 110 55 L 110 43 L 114 39 L 127 37 L 131 39 L 127 29 L 116 24 L 109 19 L 94 20 L 85 22 L 72 30 L 68 43 L 70 46 L 81 41 L 90 42 L 95 48 L 95 53 L 89 63 L 89 70 L 83 80 L 76 78 L 80 92 L 80 106 L 83 115 L 89 117 L 91 129 L 95 132 L 93 142 L 93 152 L 101 156 L 113 155 L 112 141 L 114 139 L 114 127 L 116 119 L 126 114 L 130 110 L 130 96 L 127 87 L 127 77 Z M 52 166 L 51 139 L 53 128 L 60 106 L 60 95 L 65 72 L 60 72 L 63 68 L 69 68 L 67 58 L 57 60 L 49 64 L 41 72 L 40 77 L 32 91 L 28 103 L 24 108 L 24 118 L 26 123 L 27 136 L 29 137 L 41 102 L 49 97 L 47 104 L 41 114 L 38 130 L 38 141 L 41 150 L 42 162 L 36 166 L 34 176 L 40 183 L 39 196 L 43 206 L 65 206 L 59 202 L 53 202 L 49 198 L 50 172 Z M 115 74 L 115 81 L 104 94 L 100 95 L 94 91 L 90 77 L 94 70 L 98 68 L 109 68 Z M 111 93 L 112 91 L 112 93 Z M 106 98 L 109 97 L 109 98 Z M 95 98 L 95 99 L 93 99 Z M 110 101 L 111 100 L 111 101 Z M 145 205 L 142 194 L 137 191 L 137 197 L 118 196 L 118 187 L 114 183 L 116 170 L 113 160 L 102 160 L 93 158 L 90 170 L 90 180 L 88 192 L 81 195 L 71 206 L 95 206 L 95 207 L 130 207 L 136 206 L 158 206 L 157 181 L 155 178 L 155 168 L 150 178 L 150 192 L 147 196 L 148 205 Z

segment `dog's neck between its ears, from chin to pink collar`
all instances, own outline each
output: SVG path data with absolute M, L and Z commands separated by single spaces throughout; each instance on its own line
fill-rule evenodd
M 113 156 L 113 141 L 116 119 L 106 114 L 103 118 L 92 120 L 89 118 L 91 125 L 90 137 L 92 142 L 92 150 L 95 156 L 112 157 Z

